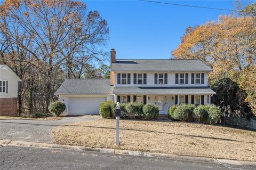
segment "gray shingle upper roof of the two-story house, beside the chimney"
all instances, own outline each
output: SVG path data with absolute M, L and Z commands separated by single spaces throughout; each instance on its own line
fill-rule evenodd
M 201 60 L 116 60 L 112 63 L 111 70 L 212 71 Z

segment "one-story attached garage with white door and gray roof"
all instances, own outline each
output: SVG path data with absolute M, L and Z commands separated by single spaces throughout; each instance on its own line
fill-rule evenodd
M 110 79 L 66 79 L 55 95 L 66 104 L 63 115 L 96 115 L 101 102 L 114 100 Z

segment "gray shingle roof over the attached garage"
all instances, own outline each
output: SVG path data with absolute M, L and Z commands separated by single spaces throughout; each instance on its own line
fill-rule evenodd
M 66 79 L 55 94 L 113 94 L 110 79 Z

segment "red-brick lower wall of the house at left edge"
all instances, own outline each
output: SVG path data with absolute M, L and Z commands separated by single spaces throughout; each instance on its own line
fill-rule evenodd
M 17 116 L 17 98 L 0 98 L 0 115 Z

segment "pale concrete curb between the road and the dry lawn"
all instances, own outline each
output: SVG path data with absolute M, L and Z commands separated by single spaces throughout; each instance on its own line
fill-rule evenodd
M 90 148 L 90 147 L 81 147 L 81 146 L 75 146 L 75 145 L 63 145 L 63 144 L 54 144 L 54 143 L 0 140 L 0 145 L 3 145 L 3 146 L 11 145 L 11 146 L 19 146 L 19 147 L 34 147 L 34 148 L 69 149 L 69 150 L 78 150 L 78 151 L 93 151 L 93 152 L 101 152 L 101 153 L 111 153 L 111 154 L 118 154 L 118 155 L 182 159 L 182 160 L 211 162 L 211 163 L 229 164 L 229 165 L 256 166 L 256 162 L 251 162 L 251 161 L 215 159 L 215 158 L 206 158 L 206 157 L 193 157 L 193 156 L 174 155 L 174 154 L 167 154 L 167 153 L 151 153 L 151 152 L 141 152 L 141 151 L 121 150 L 121 149 Z

